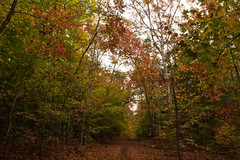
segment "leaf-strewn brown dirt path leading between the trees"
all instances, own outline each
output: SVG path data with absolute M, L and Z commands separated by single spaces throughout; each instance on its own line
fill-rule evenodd
M 124 139 L 94 146 L 83 160 L 164 160 L 161 155 L 161 150 L 144 146 L 141 141 Z

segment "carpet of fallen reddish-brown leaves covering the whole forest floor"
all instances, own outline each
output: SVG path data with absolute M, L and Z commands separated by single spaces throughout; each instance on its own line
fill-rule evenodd
M 9 148 L 7 157 L 1 159 L 47 159 L 47 160 L 175 160 L 178 159 L 177 151 L 164 144 L 158 145 L 156 141 L 146 139 L 117 139 L 105 143 L 92 143 L 86 146 L 72 145 L 49 145 L 41 152 L 39 149 L 21 149 L 17 145 Z M 19 149 L 18 152 L 16 150 Z M 226 156 L 217 153 L 204 153 L 201 150 L 185 150 L 182 152 L 184 160 L 227 160 Z

